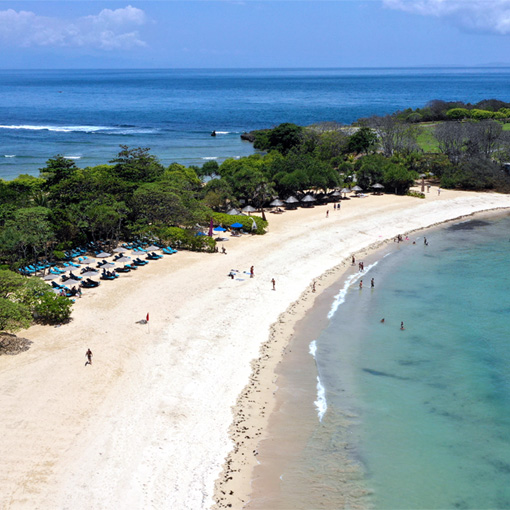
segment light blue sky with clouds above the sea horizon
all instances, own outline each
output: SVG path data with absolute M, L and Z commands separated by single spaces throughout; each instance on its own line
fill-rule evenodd
M 510 65 L 510 0 L 0 0 L 0 68 Z

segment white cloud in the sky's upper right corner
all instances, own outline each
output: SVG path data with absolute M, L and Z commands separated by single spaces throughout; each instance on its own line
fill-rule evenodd
M 462 29 L 510 34 L 510 0 L 383 0 L 386 7 L 445 18 Z

